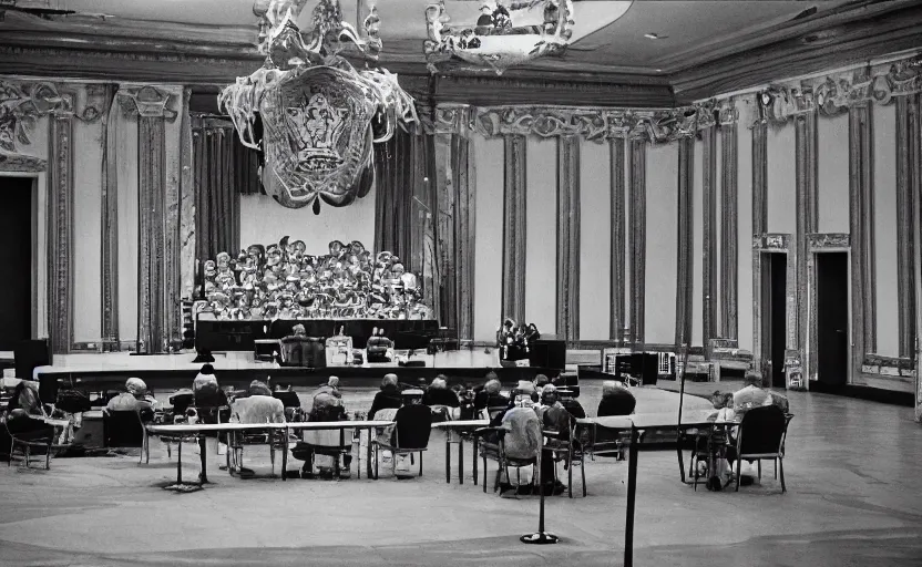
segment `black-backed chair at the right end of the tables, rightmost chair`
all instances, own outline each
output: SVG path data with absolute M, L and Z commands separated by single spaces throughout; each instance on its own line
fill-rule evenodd
M 739 492 L 739 473 L 742 461 L 756 461 L 759 480 L 762 477 L 762 460 L 775 461 L 775 476 L 781 475 L 781 493 L 785 486 L 785 440 L 788 424 L 793 415 L 785 414 L 780 408 L 768 405 L 746 412 L 736 437 L 736 489 Z

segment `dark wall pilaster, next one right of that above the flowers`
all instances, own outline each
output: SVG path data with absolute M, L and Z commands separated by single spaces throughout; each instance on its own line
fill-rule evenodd
M 557 337 L 580 336 L 580 138 L 557 140 Z

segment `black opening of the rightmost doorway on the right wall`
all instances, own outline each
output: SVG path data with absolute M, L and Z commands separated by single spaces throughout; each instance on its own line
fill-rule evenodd
M 823 385 L 848 382 L 849 257 L 819 252 L 817 265 L 817 378 Z

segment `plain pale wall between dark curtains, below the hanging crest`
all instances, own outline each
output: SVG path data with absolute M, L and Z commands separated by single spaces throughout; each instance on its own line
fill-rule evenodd
M 359 240 L 369 250 L 375 248 L 376 190 L 346 207 L 320 204 L 320 214 L 313 207 L 286 208 L 266 195 L 240 196 L 240 246 L 268 246 L 288 236 L 291 241 L 304 240 L 307 254 L 327 254 L 331 240 Z M 381 250 L 375 250 L 376 252 Z M 409 251 L 390 250 L 398 256 Z

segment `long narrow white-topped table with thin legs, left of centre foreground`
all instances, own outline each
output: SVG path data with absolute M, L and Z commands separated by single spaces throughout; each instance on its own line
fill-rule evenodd
M 340 430 L 358 429 L 368 431 L 368 461 L 371 460 L 371 430 L 375 427 L 387 427 L 392 425 L 392 421 L 331 421 L 331 422 L 296 422 L 296 423 L 196 423 L 196 424 L 174 424 L 174 425 L 155 425 L 151 424 L 145 427 L 147 436 L 171 436 L 177 439 L 177 458 L 176 458 L 176 484 L 183 484 L 183 461 L 182 446 L 183 437 L 195 436 L 198 439 L 199 455 L 202 460 L 202 472 L 198 475 L 201 484 L 208 483 L 207 476 L 207 450 L 205 447 L 205 433 L 228 433 L 240 431 L 284 431 L 285 439 L 293 430 Z M 147 441 L 145 440 L 145 444 Z M 288 451 L 287 447 L 281 452 L 281 480 L 285 481 L 285 470 L 288 466 Z

